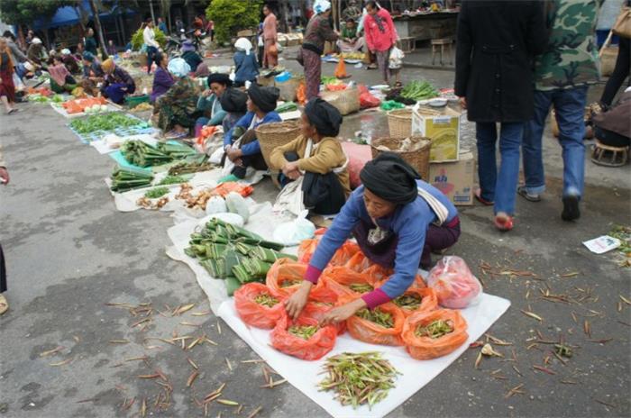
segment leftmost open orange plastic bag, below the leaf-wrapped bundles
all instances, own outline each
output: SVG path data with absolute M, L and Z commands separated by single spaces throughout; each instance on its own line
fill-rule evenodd
M 272 307 L 257 304 L 254 299 L 259 295 L 272 295 L 268 286 L 261 283 L 248 283 L 234 292 L 234 306 L 244 323 L 257 328 L 274 328 L 279 319 L 286 315 L 282 300 Z M 275 296 L 278 299 L 278 296 Z

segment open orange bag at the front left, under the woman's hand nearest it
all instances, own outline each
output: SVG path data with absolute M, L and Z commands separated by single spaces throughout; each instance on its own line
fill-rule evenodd
M 289 320 L 288 315 L 284 315 L 270 333 L 271 346 L 298 359 L 322 359 L 326 353 L 334 348 L 335 339 L 337 338 L 337 330 L 335 330 L 334 326 L 326 325 L 320 328 L 308 340 L 288 332 L 288 328 L 292 325 L 309 326 L 317 325 L 317 323 L 317 320 L 308 317 L 306 314 L 301 314 L 294 322 Z

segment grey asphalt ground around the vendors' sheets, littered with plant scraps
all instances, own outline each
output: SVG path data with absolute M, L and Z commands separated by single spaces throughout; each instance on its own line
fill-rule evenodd
M 325 67 L 325 73 L 333 70 Z M 374 71 L 353 74 L 377 82 Z M 404 79 L 415 77 L 450 86 L 453 74 L 404 70 Z M 196 399 L 225 384 L 222 397 L 242 404 L 241 416 L 259 406 L 260 416 L 325 416 L 292 386 L 260 387 L 265 383 L 261 365 L 242 363 L 256 356 L 224 323 L 205 314 L 206 295 L 193 273 L 165 255 L 166 231 L 173 224 L 169 215 L 116 212 L 104 183 L 113 162 L 82 145 L 47 104 L 20 108 L 18 114 L 0 116 L 12 176 L 9 186 L 0 187 L 0 241 L 11 304 L 0 317 L 0 414 L 138 416 L 144 404 L 154 416 L 203 416 Z M 382 116 L 359 114 L 345 119 L 344 133 L 366 128 L 367 118 L 383 132 Z M 466 142 L 472 145 L 471 136 Z M 518 198 L 513 232 L 493 229 L 490 208 L 463 208 L 462 238 L 450 250 L 468 261 L 488 293 L 512 302 L 489 330 L 510 343 L 494 345 L 504 358 L 482 359 L 476 369 L 480 349 L 466 351 L 391 416 L 631 413 L 631 306 L 619 296 L 631 297 L 631 274 L 617 267 L 615 254 L 597 256 L 581 245 L 614 223 L 631 224 L 631 169 L 598 168 L 587 161 L 581 220 L 563 223 L 562 163 L 552 138 L 546 138 L 545 165 L 544 201 Z M 253 197 L 271 199 L 273 193 L 266 180 Z M 511 276 L 509 270 L 519 273 Z M 571 302 L 550 302 L 542 298 L 545 292 Z M 136 316 L 108 303 L 136 306 Z M 177 316 L 160 314 L 186 304 L 195 306 Z M 151 322 L 139 323 L 149 308 Z M 154 339 L 190 335 L 188 347 L 204 333 L 216 345 L 206 341 L 182 350 Z M 561 361 L 552 345 L 537 343 L 560 338 L 573 347 L 572 358 Z M 187 379 L 195 369 L 188 359 L 199 373 L 192 388 Z M 172 392 L 159 385 L 161 378 L 139 378 L 155 374 L 164 375 Z M 237 411 L 212 404 L 208 413 Z

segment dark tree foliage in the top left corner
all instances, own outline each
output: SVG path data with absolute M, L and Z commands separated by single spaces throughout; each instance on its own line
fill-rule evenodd
M 0 0 L 0 17 L 9 24 L 32 24 L 50 19 L 59 7 L 76 5 L 73 0 Z

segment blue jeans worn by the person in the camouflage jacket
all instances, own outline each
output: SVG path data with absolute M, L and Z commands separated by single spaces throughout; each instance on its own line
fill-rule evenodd
M 545 118 L 554 106 L 559 125 L 563 158 L 563 196 L 583 194 L 585 179 L 585 104 L 587 86 L 565 90 L 535 91 L 535 117 L 526 123 L 522 152 L 526 191 L 539 195 L 545 190 L 542 136 Z

